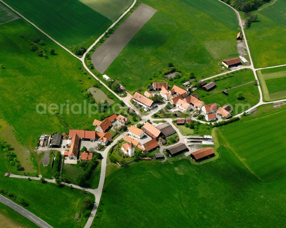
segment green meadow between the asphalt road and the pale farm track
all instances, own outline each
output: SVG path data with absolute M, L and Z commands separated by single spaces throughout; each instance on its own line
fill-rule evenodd
M 0 158 L 1 188 L 16 196 L 23 197 L 29 204 L 28 207 L 25 207 L 27 210 L 55 228 L 84 227 L 91 210 L 86 210 L 83 214 L 80 212 L 85 196 L 83 191 L 70 189 L 69 187 L 58 187 L 51 183 L 43 184 L 41 181 L 4 177 L 7 171 L 3 159 Z M 88 196 L 94 199 L 92 194 L 88 194 Z M 78 217 L 76 216 L 77 213 Z M 78 223 L 79 218 L 81 219 L 80 223 Z

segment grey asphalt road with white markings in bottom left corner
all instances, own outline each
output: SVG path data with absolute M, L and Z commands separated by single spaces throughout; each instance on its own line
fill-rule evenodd
M 10 199 L 6 198 L 3 195 L 0 195 L 0 202 L 7 205 L 8 207 L 11 207 L 13 210 L 17 211 L 19 214 L 23 215 L 27 219 L 31 220 L 33 223 L 38 225 L 42 228 L 53 228 L 49 224 L 47 224 L 45 221 L 37 217 L 36 215 L 32 214 L 30 211 L 27 211 L 25 208 L 21 207 L 20 205 L 14 203 Z

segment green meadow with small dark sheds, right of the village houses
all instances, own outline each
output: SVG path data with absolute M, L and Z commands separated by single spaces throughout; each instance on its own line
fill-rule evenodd
M 255 77 L 252 70 L 244 69 L 235 71 L 229 73 L 229 76 L 229 78 L 225 79 L 223 79 L 223 76 L 216 78 L 220 79 L 215 82 L 217 87 L 209 92 L 202 89 L 198 89 L 195 92 L 197 92 L 198 96 L 205 104 L 217 103 L 219 106 L 231 104 L 231 106 L 233 106 L 233 115 L 244 112 L 259 102 L 259 91 L 257 86 L 253 84 Z M 210 81 L 211 80 L 207 80 L 207 82 Z M 236 86 L 239 87 L 234 88 Z M 229 87 L 231 88 L 227 89 Z M 222 93 L 222 90 L 225 89 L 227 89 L 227 92 L 229 93 L 227 96 Z M 243 93 L 243 100 L 237 100 L 236 98 L 236 94 L 239 91 Z

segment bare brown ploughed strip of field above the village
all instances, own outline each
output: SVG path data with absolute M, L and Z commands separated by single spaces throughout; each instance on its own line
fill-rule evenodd
M 94 67 L 103 73 L 154 13 L 155 9 L 141 4 L 92 55 Z

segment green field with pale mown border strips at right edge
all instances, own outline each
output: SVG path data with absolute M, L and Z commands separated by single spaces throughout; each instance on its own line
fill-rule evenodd
M 286 98 L 286 67 L 258 70 L 263 98 L 266 101 Z

